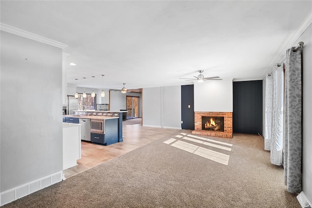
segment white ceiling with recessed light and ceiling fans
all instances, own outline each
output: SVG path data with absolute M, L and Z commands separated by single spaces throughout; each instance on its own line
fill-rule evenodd
M 197 70 L 262 79 L 312 1 L 1 0 L 0 9 L 1 23 L 68 45 L 77 66 L 67 66 L 67 83 L 101 88 L 104 74 L 104 88 L 121 89 L 188 84 L 179 78 Z

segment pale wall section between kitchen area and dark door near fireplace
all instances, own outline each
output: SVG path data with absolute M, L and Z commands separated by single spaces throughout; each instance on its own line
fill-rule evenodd
M 143 89 L 143 126 L 181 129 L 181 86 Z

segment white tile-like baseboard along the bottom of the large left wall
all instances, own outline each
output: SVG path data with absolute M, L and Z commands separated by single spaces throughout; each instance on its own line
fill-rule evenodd
M 62 181 L 63 171 L 53 173 L 51 175 L 42 177 L 35 181 L 23 184 L 18 187 L 0 193 L 0 206 L 13 202 L 42 188 L 49 187 Z

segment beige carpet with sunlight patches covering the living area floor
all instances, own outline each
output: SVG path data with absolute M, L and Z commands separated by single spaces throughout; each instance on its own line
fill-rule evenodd
M 179 130 L 3 208 L 300 208 L 283 185 L 282 168 L 263 150 L 263 137 L 184 135 L 190 132 Z M 228 165 L 214 158 L 228 158 Z

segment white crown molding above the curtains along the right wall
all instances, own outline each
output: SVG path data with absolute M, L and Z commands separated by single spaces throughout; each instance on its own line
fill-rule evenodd
M 291 48 L 295 44 L 295 42 L 300 38 L 300 36 L 304 33 L 304 31 L 309 27 L 311 23 L 312 12 L 310 12 L 307 18 L 302 22 L 297 31 L 278 47 L 278 50 L 281 54 L 268 65 L 268 70 L 264 73 L 262 78 L 265 78 L 266 74 L 273 68 L 274 63 L 279 63 L 285 59 L 286 50 L 288 48 Z M 282 50 L 284 51 L 284 53 Z

